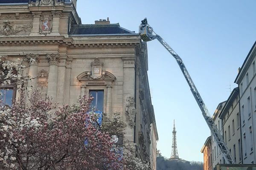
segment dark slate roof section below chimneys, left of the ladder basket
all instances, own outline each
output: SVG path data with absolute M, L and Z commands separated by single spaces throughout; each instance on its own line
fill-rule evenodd
M 129 31 L 117 24 L 81 24 L 73 25 L 70 29 L 71 36 L 81 35 L 102 35 L 102 34 L 135 34 L 133 31 Z

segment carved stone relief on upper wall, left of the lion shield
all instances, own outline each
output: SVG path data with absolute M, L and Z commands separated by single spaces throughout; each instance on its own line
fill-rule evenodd
M 32 23 L 14 26 L 10 21 L 4 22 L 3 27 L 0 27 L 0 35 L 12 35 L 18 32 L 31 31 Z

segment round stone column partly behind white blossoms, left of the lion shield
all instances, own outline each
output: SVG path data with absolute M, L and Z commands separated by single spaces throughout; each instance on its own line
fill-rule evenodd
M 31 80 L 28 81 L 28 88 L 37 88 L 38 83 L 38 56 L 34 54 L 26 55 L 27 59 L 35 59 L 34 62 L 29 62 L 29 76 Z

